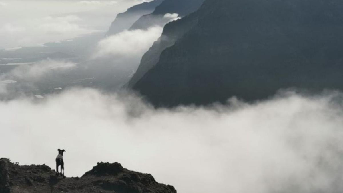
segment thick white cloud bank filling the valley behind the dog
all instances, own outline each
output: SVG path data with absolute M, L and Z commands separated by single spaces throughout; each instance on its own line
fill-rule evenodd
M 178 192 L 340 192 L 341 93 L 154 109 L 137 96 L 74 89 L 0 102 L 2 157 L 68 176 L 98 161 L 152 173 Z

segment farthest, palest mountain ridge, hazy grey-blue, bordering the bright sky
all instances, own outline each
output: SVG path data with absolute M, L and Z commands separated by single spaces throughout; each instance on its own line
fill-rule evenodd
M 124 13 L 119 13 L 116 19 L 112 22 L 107 35 L 113 35 L 129 29 L 132 24 L 137 21 L 142 15 L 152 13 L 155 8 L 164 0 L 153 0 L 134 5 Z

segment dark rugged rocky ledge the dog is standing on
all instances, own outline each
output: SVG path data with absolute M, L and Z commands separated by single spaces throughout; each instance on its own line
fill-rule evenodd
M 48 166 L 19 166 L 1 158 L 0 192 L 176 193 L 176 190 L 157 183 L 151 174 L 127 170 L 120 163 L 101 162 L 81 178 L 63 179 L 56 177 Z

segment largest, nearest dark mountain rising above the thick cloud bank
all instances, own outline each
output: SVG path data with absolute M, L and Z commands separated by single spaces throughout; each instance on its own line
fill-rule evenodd
M 341 10 L 339 0 L 206 0 L 165 27 L 175 44 L 159 59 L 144 58 L 158 62 L 131 86 L 157 106 L 252 101 L 280 88 L 343 89 Z M 181 36 L 172 30 L 184 23 L 191 27 Z

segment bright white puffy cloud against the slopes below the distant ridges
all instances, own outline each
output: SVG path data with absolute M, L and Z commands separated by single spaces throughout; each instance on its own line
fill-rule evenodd
M 94 57 L 143 55 L 161 36 L 162 31 L 162 27 L 156 26 L 148 30 L 124 31 L 107 37 L 98 43 Z

